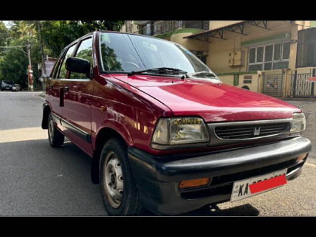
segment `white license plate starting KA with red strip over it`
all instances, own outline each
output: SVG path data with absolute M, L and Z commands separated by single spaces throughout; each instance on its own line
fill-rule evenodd
M 252 197 L 257 194 L 282 187 L 286 184 L 287 169 L 275 171 L 273 173 L 252 177 L 236 181 L 233 185 L 231 201 L 241 200 L 247 197 Z

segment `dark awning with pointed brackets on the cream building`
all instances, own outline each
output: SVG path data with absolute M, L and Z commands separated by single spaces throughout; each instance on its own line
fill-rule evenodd
M 286 22 L 292 24 L 295 21 L 286 21 Z M 260 27 L 260 28 L 270 31 L 270 29 L 268 28 L 268 21 L 240 21 L 238 23 L 234 23 L 231 25 L 215 28 L 208 31 L 203 31 L 191 36 L 186 36 L 186 37 L 183 37 L 183 39 L 189 38 L 189 39 L 202 40 L 202 41 L 209 42 L 208 38 L 213 37 L 213 38 L 217 38 L 221 40 L 227 40 L 224 38 L 224 31 L 230 31 L 230 32 L 234 32 L 234 33 L 246 36 L 247 34 L 245 34 L 244 32 L 245 24 Z

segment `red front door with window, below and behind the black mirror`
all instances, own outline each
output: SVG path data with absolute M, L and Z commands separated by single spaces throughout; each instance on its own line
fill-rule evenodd
M 91 69 L 92 40 L 89 36 L 79 41 L 74 57 L 89 60 Z M 67 72 L 64 86 L 63 118 L 66 119 L 66 136 L 84 150 L 92 155 L 91 146 L 91 97 L 93 91 L 93 79 L 84 74 Z

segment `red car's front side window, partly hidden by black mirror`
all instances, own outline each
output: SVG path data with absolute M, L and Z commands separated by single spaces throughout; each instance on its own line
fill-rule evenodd
M 90 62 L 91 68 L 93 67 L 92 61 L 92 37 L 82 40 L 76 52 L 75 57 L 87 59 Z M 71 72 L 70 79 L 86 79 L 86 75 L 82 73 Z

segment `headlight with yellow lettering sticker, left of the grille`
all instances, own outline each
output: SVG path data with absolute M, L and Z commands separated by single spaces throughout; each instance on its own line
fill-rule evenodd
M 201 118 L 160 118 L 152 143 L 176 145 L 209 141 L 209 134 Z

